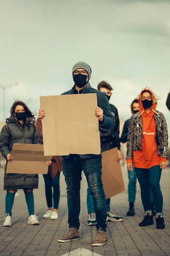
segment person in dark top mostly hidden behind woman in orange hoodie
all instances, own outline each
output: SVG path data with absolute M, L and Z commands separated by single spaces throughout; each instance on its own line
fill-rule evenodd
M 132 114 L 138 113 L 139 112 L 139 102 L 138 99 L 134 99 L 132 104 L 130 105 L 130 109 Z M 122 135 L 120 137 L 120 140 L 122 143 L 126 143 L 127 142 L 127 134 L 128 134 L 128 128 L 129 128 L 129 121 L 130 119 L 127 119 L 125 121 L 125 124 L 123 126 L 123 131 L 122 131 Z M 129 179 L 129 183 L 128 183 L 128 201 L 129 201 L 129 209 L 127 211 L 127 216 L 134 216 L 135 215 L 135 208 L 134 208 L 134 203 L 135 203 L 135 199 L 136 199 L 136 181 L 137 181 L 137 177 L 136 177 L 136 172 L 135 169 L 133 167 L 132 171 L 128 171 L 128 179 Z M 153 204 L 153 195 L 152 192 L 150 190 L 150 198 L 152 201 L 152 212 L 153 214 L 155 214 L 154 212 L 154 204 Z

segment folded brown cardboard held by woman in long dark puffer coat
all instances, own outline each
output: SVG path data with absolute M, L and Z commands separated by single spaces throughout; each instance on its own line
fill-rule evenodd
M 14 144 L 11 156 L 14 160 L 9 161 L 7 173 L 23 174 L 47 174 L 47 161 L 51 157 L 44 156 L 43 145 L 39 144 Z

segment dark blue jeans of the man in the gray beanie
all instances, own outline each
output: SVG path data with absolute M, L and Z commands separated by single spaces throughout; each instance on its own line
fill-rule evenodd
M 83 170 L 94 199 L 96 227 L 101 227 L 105 230 L 107 227 L 107 211 L 105 192 L 102 185 L 102 159 L 82 159 L 79 155 L 71 155 L 68 159 L 62 161 L 62 165 L 67 185 L 69 228 L 79 229 L 80 226 L 80 182 Z

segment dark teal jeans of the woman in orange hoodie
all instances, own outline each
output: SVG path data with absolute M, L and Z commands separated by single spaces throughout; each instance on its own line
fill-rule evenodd
M 136 176 L 141 187 L 141 198 L 144 211 L 151 210 L 150 188 L 153 194 L 153 203 L 155 211 L 162 213 L 163 197 L 160 189 L 161 168 L 160 166 L 153 166 L 150 169 L 136 168 Z

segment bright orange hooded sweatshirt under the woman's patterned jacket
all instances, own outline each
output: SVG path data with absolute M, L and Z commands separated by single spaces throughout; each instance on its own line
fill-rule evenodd
M 149 90 L 148 90 L 149 91 Z M 149 169 L 152 166 L 160 165 L 167 159 L 158 155 L 156 144 L 156 122 L 154 114 L 156 103 L 153 102 L 152 110 L 147 113 L 144 111 L 142 100 L 139 100 L 139 112 L 142 115 L 143 136 L 142 151 L 133 151 L 133 160 L 127 159 L 127 163 L 132 163 L 136 168 Z

